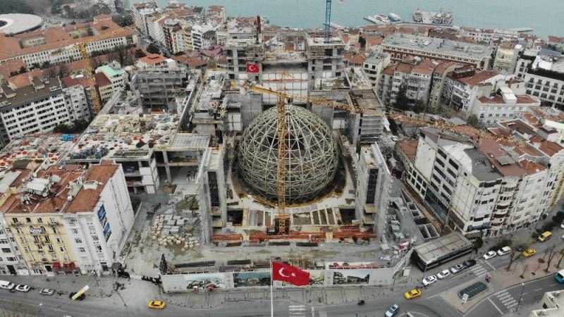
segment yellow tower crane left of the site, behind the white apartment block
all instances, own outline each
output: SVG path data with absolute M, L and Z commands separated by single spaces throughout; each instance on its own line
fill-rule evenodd
M 171 10 L 171 11 L 167 11 L 165 13 L 161 13 L 159 15 L 155 15 L 152 20 L 158 20 L 159 18 L 162 18 L 165 15 L 170 15 L 171 13 L 175 13 L 176 11 L 180 11 L 181 9 L 176 9 L 176 10 Z M 80 61 L 84 60 L 85 61 L 85 78 L 87 79 L 87 82 L 90 85 L 90 97 L 92 98 L 92 108 L 94 110 L 94 113 L 99 113 L 100 109 L 102 108 L 102 101 L 99 99 L 98 96 L 98 92 L 96 91 L 96 85 L 95 85 L 95 81 L 94 81 L 94 77 L 92 76 L 92 64 L 90 63 L 90 56 L 88 54 L 87 51 L 87 46 L 90 43 L 93 42 L 97 42 L 100 41 L 102 39 L 107 39 L 109 37 L 113 37 L 114 35 L 118 35 L 120 33 L 123 33 L 124 31 L 128 31 L 128 30 L 133 30 L 135 29 L 135 27 L 137 27 L 138 25 L 140 25 L 142 22 L 138 22 L 138 23 L 133 23 L 132 25 L 128 25 L 126 27 L 120 27 L 116 30 L 111 30 L 109 32 L 105 32 L 103 34 L 100 35 L 94 35 L 92 37 L 87 37 L 84 39 L 80 39 L 80 42 L 76 43 L 76 44 L 71 44 L 68 46 L 63 47 L 62 49 L 59 49 L 57 51 L 54 51 L 51 55 L 59 55 L 61 54 L 63 51 L 74 51 L 76 49 L 78 49 L 78 52 L 80 53 Z

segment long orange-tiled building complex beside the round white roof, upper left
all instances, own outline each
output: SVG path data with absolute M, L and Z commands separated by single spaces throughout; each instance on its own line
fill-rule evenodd
M 49 27 L 47 30 L 37 30 L 13 37 L 0 35 L 0 63 L 21 59 L 27 68 L 31 68 L 78 61 L 82 59 L 76 46 L 79 37 L 94 37 L 108 32 L 112 32 L 112 35 L 86 45 L 88 54 L 137 44 L 135 31 L 120 29 L 121 27 L 111 20 L 110 15 L 97 15 L 92 23 Z

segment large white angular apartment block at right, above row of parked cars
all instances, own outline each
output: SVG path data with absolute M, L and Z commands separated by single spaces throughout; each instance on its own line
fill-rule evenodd
M 564 148 L 530 128 L 525 134 L 522 122 L 498 127 L 500 134 L 515 137 L 521 130 L 528 145 L 505 147 L 491 139 L 475 145 L 423 128 L 407 172 L 407 183 L 434 215 L 469 238 L 529 227 L 550 211 L 561 190 Z

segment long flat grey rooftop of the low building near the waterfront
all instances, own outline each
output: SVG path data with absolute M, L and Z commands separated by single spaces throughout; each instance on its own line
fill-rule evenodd
M 450 56 L 472 58 L 477 61 L 481 61 L 482 58 L 491 54 L 491 49 L 484 45 L 452 41 L 450 39 L 405 35 L 402 33 L 394 33 L 386 37 L 384 42 L 382 42 L 382 46 L 384 48 L 387 46 L 391 48 L 415 49 L 431 54 L 448 54 Z

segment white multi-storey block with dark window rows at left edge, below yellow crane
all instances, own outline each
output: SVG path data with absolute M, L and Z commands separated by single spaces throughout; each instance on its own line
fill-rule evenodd
M 84 92 L 65 88 L 59 78 L 25 73 L 0 86 L 0 142 L 20 135 L 49 132 L 90 113 Z

